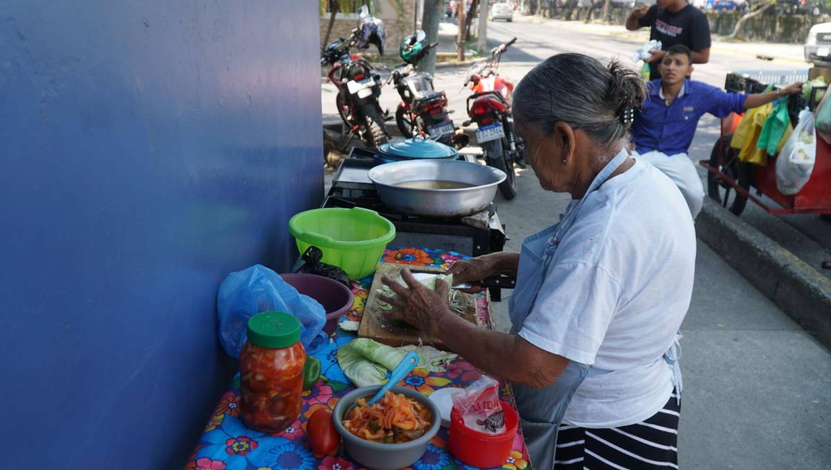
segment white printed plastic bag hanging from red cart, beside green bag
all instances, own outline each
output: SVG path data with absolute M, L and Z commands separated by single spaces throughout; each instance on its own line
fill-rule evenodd
M 784 143 L 776 159 L 776 187 L 783 194 L 799 193 L 814 171 L 817 154 L 817 135 L 814 115 L 805 109 L 799 111 L 799 124 Z

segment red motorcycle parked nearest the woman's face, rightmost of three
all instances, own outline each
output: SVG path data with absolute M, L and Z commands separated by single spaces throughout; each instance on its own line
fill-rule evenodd
M 490 60 L 470 67 L 465 86 L 474 91 L 467 99 L 467 113 L 470 120 L 465 127 L 475 122 L 476 141 L 482 146 L 484 159 L 489 166 L 501 169 L 507 179 L 499 184 L 504 198 L 513 199 L 516 194 L 514 166 L 525 168 L 525 146 L 514 131 L 514 117 L 511 114 L 511 95 L 514 84 L 499 76 L 499 60 L 502 54 L 517 38 L 494 47 Z

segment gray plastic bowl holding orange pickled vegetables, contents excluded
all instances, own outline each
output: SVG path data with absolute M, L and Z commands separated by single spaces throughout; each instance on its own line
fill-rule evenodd
M 341 433 L 343 437 L 343 448 L 347 450 L 349 456 L 355 459 L 357 463 L 368 468 L 376 468 L 376 470 L 396 470 L 398 468 L 409 467 L 424 455 L 427 450 L 427 443 L 430 443 L 430 439 L 439 432 L 439 428 L 441 427 L 439 407 L 432 400 L 414 389 L 393 387 L 391 390 L 393 393 L 404 394 L 411 399 L 416 399 L 421 404 L 424 404 L 427 409 L 430 409 L 433 422 L 423 436 L 409 443 L 372 443 L 347 431 L 347 428 L 343 427 L 342 421 L 343 415 L 347 413 L 350 405 L 355 403 L 357 399 L 363 397 L 371 399 L 378 389 L 381 389 L 381 385 L 361 387 L 360 389 L 352 390 L 352 392 L 344 395 L 342 399 L 339 399 L 332 413 L 335 428 L 337 428 L 337 432 Z

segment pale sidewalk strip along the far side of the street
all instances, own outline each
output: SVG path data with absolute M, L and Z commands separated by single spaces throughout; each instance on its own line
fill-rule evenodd
M 649 28 L 627 31 L 623 25 L 584 23 L 582 21 L 567 22 L 552 18 L 519 15 L 514 17 L 514 22 L 550 24 L 552 27 L 568 29 L 575 32 L 621 37 L 637 42 L 649 41 Z M 751 57 L 768 56 L 773 57 L 777 61 L 789 61 L 805 66 L 804 51 L 801 44 L 784 44 L 779 42 L 725 42 L 721 37 L 713 35 L 711 52 Z

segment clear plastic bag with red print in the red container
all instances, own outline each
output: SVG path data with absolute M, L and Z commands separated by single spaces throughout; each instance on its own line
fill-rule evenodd
M 458 409 L 465 426 L 480 433 L 504 433 L 505 412 L 499 403 L 499 382 L 482 375 L 464 392 L 454 394 L 453 408 Z

